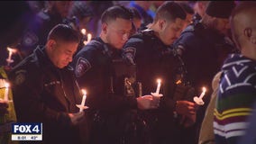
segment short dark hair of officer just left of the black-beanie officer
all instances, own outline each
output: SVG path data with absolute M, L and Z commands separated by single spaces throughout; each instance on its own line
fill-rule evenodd
M 157 22 L 159 19 L 173 21 L 177 18 L 180 18 L 185 20 L 186 16 L 186 12 L 179 4 L 175 2 L 165 2 L 158 8 L 154 22 Z

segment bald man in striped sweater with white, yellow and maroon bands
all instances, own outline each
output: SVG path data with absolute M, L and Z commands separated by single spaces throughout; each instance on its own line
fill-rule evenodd
M 233 10 L 233 40 L 241 54 L 224 61 L 217 100 L 214 132 L 216 144 L 233 144 L 245 134 L 256 101 L 256 3 L 241 2 Z

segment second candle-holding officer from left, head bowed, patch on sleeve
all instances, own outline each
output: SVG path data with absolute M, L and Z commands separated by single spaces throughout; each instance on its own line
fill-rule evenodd
M 92 121 L 89 142 L 146 143 L 138 135 L 139 120 L 134 110 L 156 108 L 157 103 L 152 103 L 151 95 L 136 98 L 134 67 L 126 66 L 121 57 L 132 31 L 133 14 L 124 6 L 114 5 L 105 10 L 101 22 L 100 36 L 81 49 L 73 61 L 78 83 L 88 93 L 91 115 L 87 117 Z

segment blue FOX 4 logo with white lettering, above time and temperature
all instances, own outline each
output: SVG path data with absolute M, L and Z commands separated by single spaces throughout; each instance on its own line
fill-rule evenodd
M 41 134 L 42 123 L 13 123 L 13 134 Z

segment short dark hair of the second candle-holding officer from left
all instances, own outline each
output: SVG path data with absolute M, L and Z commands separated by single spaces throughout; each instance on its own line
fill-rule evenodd
M 106 9 L 101 15 L 101 23 L 108 23 L 110 21 L 114 21 L 116 18 L 133 20 L 133 13 L 125 6 L 116 4 Z

